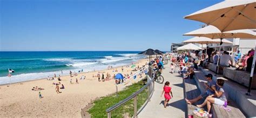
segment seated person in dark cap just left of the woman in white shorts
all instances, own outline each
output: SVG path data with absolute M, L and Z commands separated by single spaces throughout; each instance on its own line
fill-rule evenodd
M 206 86 L 206 91 L 202 94 L 200 94 L 197 98 L 194 98 L 192 100 L 188 100 L 185 99 L 187 104 L 193 104 L 194 102 L 197 102 L 200 99 L 206 99 L 209 95 L 214 94 L 214 90 L 212 89 L 212 86 L 217 86 L 216 82 L 214 82 L 214 80 L 212 80 L 212 74 L 208 73 L 208 75 L 205 76 L 207 83 L 205 83 L 204 85 Z

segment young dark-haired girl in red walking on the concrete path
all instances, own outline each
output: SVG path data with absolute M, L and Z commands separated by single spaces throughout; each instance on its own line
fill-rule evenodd
M 160 96 L 160 97 L 162 97 L 163 94 L 164 94 L 164 98 L 165 98 L 165 100 L 164 100 L 164 108 L 166 108 L 166 105 L 168 104 L 170 99 L 173 98 L 172 88 L 169 85 L 170 85 L 170 82 L 168 82 L 168 81 L 165 82 L 164 87 L 163 87 L 163 92 L 161 93 L 161 96 Z M 171 97 L 170 93 L 171 93 L 172 97 Z

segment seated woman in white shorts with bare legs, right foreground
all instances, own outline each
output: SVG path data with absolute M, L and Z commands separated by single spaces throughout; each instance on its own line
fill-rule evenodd
M 211 104 L 217 104 L 221 106 L 225 105 L 225 101 L 227 101 L 227 98 L 225 96 L 224 89 L 223 89 L 224 83 L 225 81 L 223 79 L 218 79 L 217 80 L 218 89 L 216 89 L 215 86 L 212 86 L 212 89 L 214 90 L 215 94 L 208 96 L 203 102 L 203 104 L 197 105 L 197 107 L 201 108 L 207 105 L 207 110 L 209 113 L 212 107 Z M 215 96 L 216 98 L 213 98 L 213 96 Z

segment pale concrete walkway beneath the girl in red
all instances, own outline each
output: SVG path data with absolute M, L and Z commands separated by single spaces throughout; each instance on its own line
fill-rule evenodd
M 170 73 L 170 66 L 165 65 L 163 70 L 164 83 L 170 82 L 172 87 L 173 98 L 169 102 L 169 106 L 164 108 L 164 97 L 160 98 L 163 91 L 164 84 L 155 83 L 155 91 L 152 95 L 151 101 L 147 103 L 138 117 L 185 117 L 186 102 L 184 100 L 184 84 L 183 79 L 178 73 Z

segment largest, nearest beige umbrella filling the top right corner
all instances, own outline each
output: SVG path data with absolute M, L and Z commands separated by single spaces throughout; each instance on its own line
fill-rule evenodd
M 185 19 L 217 27 L 221 32 L 256 28 L 256 1 L 223 1 L 194 12 Z

